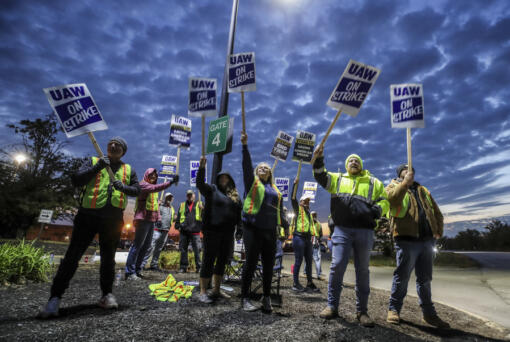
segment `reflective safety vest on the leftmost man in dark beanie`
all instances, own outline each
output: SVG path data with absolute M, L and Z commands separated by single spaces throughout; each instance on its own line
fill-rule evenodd
M 92 165 L 96 165 L 99 158 L 92 157 Z M 131 166 L 122 164 L 115 173 L 115 179 L 120 180 L 123 184 L 129 184 L 131 177 Z M 106 168 L 103 168 L 96 174 L 87 185 L 83 187 L 80 203 L 82 208 L 97 209 L 106 205 L 108 200 L 108 186 L 110 177 Z M 123 192 L 116 190 L 112 186 L 111 204 L 116 208 L 126 209 L 127 196 Z

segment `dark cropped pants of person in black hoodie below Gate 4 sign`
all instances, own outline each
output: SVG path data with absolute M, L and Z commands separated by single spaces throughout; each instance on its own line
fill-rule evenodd
M 200 270 L 201 278 L 211 278 L 214 274 L 223 276 L 225 265 L 233 248 L 234 230 L 204 230 L 204 259 Z M 216 265 L 214 261 L 216 260 Z M 213 270 L 214 268 L 214 270 Z

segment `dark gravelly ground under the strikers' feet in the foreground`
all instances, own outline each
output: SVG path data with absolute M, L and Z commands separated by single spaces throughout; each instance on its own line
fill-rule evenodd
M 230 300 L 213 305 L 198 302 L 194 293 L 178 303 L 158 302 L 148 285 L 166 274 L 146 272 L 146 279 L 125 282 L 114 288 L 118 310 L 105 311 L 95 305 L 100 297 L 98 265 L 80 265 L 63 297 L 61 315 L 47 321 L 36 319 L 47 301 L 50 283 L 0 287 L 1 341 L 497 341 L 509 332 L 474 316 L 437 304 L 439 315 L 452 329 L 440 331 L 421 322 L 414 297 L 406 298 L 403 322 L 386 323 L 388 292 L 372 290 L 369 314 L 374 328 L 363 328 L 355 318 L 355 293 L 345 286 L 340 318 L 318 317 L 326 304 L 327 282 L 315 281 L 320 293 L 296 294 L 289 275 L 282 278 L 283 306 L 272 314 L 246 313 L 240 309 L 240 284 Z M 198 280 L 195 273 L 174 274 L 177 280 Z

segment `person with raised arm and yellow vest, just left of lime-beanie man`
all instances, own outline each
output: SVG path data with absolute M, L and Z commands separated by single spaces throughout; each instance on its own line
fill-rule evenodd
M 294 249 L 294 285 L 292 290 L 296 292 L 305 291 L 305 288 L 299 283 L 299 269 L 304 258 L 307 278 L 306 290 L 317 292 L 319 289 L 312 281 L 312 233 L 314 231 L 314 221 L 310 214 L 311 196 L 303 194 L 298 203 L 296 200 L 297 187 L 299 187 L 299 178 L 294 179 L 291 198 L 295 214 L 295 229 L 292 233 L 292 248 Z

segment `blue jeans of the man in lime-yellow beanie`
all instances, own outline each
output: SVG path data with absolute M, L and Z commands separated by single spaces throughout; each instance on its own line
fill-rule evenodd
M 334 310 L 338 309 L 344 274 L 352 250 L 356 271 L 356 311 L 366 313 L 370 294 L 368 261 L 374 244 L 374 231 L 335 226 L 331 242 L 333 251 L 329 272 L 328 306 Z

